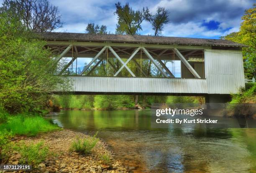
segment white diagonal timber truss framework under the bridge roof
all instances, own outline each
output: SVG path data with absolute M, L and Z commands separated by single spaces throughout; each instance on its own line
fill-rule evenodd
M 203 46 L 192 45 L 161 45 L 161 44 L 145 44 L 145 43 L 98 43 L 98 42 L 79 42 L 79 41 L 47 41 L 47 48 L 51 49 L 56 55 L 56 63 L 61 58 L 70 57 L 71 60 L 64 65 L 59 71 L 59 75 L 63 74 L 77 58 L 92 58 L 92 60 L 76 75 L 90 74 L 97 66 L 106 60 L 107 63 L 115 70 L 114 77 L 118 76 L 123 69 L 126 69 L 132 77 L 136 77 L 133 71 L 128 68 L 128 63 L 133 62 L 144 77 L 149 77 L 146 71 L 138 63 L 139 59 L 150 60 L 164 78 L 175 78 L 173 72 L 166 67 L 162 60 L 180 60 L 183 68 L 192 74 L 190 78 L 204 78 L 203 74 L 199 74 L 195 67 L 192 67 L 191 60 L 199 59 L 204 63 L 204 50 L 210 49 Z M 116 58 L 121 66 L 117 67 L 109 61 L 110 58 Z M 126 61 L 124 61 L 126 59 Z M 189 62 L 190 61 L 190 62 Z M 92 65 L 94 65 L 92 67 Z M 90 68 L 91 67 L 91 68 Z M 85 74 L 85 72 L 87 72 Z M 138 76 L 137 76 L 138 77 Z M 185 78 L 185 77 L 184 77 Z

